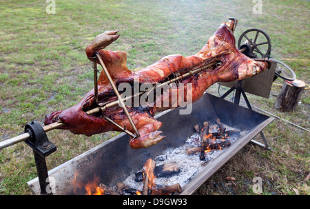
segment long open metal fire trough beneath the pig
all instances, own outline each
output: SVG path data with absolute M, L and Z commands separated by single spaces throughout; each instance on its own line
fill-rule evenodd
M 176 108 L 156 115 L 156 119 L 163 122 L 161 130 L 166 136 L 156 146 L 134 150 L 129 146 L 129 136 L 122 133 L 50 170 L 48 174 L 54 195 L 84 195 L 79 191 L 74 193 L 72 183 L 87 183 L 93 181 L 94 176 L 99 177 L 101 183 L 107 186 L 115 186 L 116 182 L 124 181 L 129 175 L 143 168 L 148 158 L 163 155 L 167 148 L 182 146 L 187 137 L 194 134 L 193 126 L 197 123 L 215 123 L 216 117 L 219 117 L 228 126 L 246 130 L 245 137 L 238 139 L 182 188 L 181 195 L 191 195 L 273 120 L 207 93 L 193 104 L 190 115 L 180 115 L 179 110 L 180 108 Z M 77 174 L 76 177 L 74 174 Z M 28 185 L 34 195 L 40 195 L 38 178 L 28 181 Z

